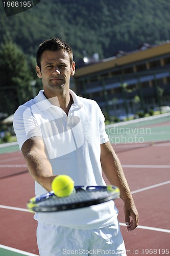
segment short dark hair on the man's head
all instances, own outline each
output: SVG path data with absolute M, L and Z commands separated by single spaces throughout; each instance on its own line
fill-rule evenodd
M 56 37 L 47 39 L 39 45 L 37 50 L 37 55 L 36 55 L 37 66 L 41 69 L 41 55 L 44 51 L 59 51 L 59 50 L 64 50 L 68 53 L 70 66 L 71 66 L 73 61 L 73 52 L 71 47 L 68 44 L 66 44 L 65 41 Z

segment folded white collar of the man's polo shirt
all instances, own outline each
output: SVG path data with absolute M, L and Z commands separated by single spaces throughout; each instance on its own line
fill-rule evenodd
M 69 93 L 72 96 L 74 104 L 77 106 L 77 108 L 81 109 L 83 104 L 80 100 L 80 97 L 78 97 L 76 93 L 72 90 L 69 90 Z M 43 94 L 43 90 L 39 91 L 38 95 L 34 98 L 34 100 L 40 111 L 45 111 L 53 106 Z

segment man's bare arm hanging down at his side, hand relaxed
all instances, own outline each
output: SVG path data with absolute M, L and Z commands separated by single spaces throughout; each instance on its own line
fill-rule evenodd
M 132 231 L 138 225 L 138 212 L 120 161 L 109 141 L 101 144 L 101 165 L 110 184 L 120 189 L 120 198 L 124 201 L 127 230 Z M 130 220 L 130 216 L 132 220 Z

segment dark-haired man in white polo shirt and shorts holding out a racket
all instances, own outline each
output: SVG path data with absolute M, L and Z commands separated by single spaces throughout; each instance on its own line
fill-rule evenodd
M 35 180 L 35 194 L 51 190 L 53 179 L 70 176 L 75 185 L 105 185 L 120 189 L 125 222 L 131 231 L 138 213 L 123 169 L 105 132 L 98 104 L 69 89 L 75 74 L 71 48 L 62 40 L 45 40 L 37 51 L 37 76 L 43 90 L 19 106 L 14 129 L 19 147 Z M 41 256 L 126 255 L 113 201 L 55 213 L 36 213 L 37 242 Z

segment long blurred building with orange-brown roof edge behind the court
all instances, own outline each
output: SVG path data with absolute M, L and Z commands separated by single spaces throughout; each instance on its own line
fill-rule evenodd
M 78 95 L 94 99 L 109 116 L 170 105 L 170 41 L 142 44 L 76 69 Z

